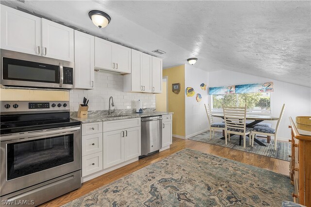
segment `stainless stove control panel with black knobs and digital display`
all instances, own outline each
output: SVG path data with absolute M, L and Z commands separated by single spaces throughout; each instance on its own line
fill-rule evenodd
M 0 101 L 1 114 L 28 111 L 69 111 L 69 101 Z

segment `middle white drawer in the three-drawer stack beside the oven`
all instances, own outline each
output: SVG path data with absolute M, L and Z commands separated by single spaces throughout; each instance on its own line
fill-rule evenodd
M 82 156 L 103 151 L 103 133 L 82 136 Z

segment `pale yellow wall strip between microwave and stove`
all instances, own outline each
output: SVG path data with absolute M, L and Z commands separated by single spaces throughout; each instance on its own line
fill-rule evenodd
M 0 89 L 1 101 L 69 101 L 69 91 Z

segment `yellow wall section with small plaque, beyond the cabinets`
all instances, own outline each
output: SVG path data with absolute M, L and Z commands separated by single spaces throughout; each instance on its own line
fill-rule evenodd
M 163 77 L 168 77 L 169 112 L 173 112 L 173 134 L 186 136 L 185 130 L 185 65 L 178 65 L 163 70 Z M 172 84 L 180 83 L 180 93 L 174 94 Z

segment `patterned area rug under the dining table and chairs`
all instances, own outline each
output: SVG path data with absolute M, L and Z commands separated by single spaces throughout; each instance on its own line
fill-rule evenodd
M 230 142 L 225 145 L 225 140 L 221 140 L 223 133 L 215 131 L 215 135 L 212 136 L 212 139 L 209 138 L 209 131 L 199 134 L 195 137 L 189 138 L 190 140 L 199 141 L 202 143 L 215 144 L 219 146 L 225 146 L 233 149 L 238 149 L 245 152 L 250 152 L 258 155 L 263 155 L 267 157 L 272 157 L 276 159 L 282 159 L 289 161 L 288 157 L 291 154 L 291 144 L 289 142 L 277 142 L 276 150 L 274 150 L 274 140 L 271 138 L 270 143 L 267 143 L 265 138 L 257 138 L 262 143 L 265 143 L 267 146 L 260 146 L 258 143 L 254 142 L 254 147 L 249 145 L 249 138 L 246 137 L 246 149 L 243 149 L 243 141 L 241 146 L 239 145 L 239 135 L 231 135 Z

